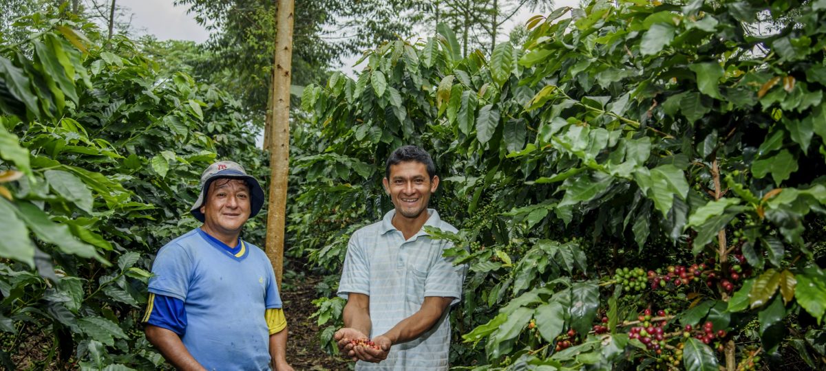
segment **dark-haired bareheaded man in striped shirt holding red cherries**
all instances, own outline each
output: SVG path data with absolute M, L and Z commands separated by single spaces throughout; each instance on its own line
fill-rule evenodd
M 424 229 L 457 232 L 427 208 L 439 187 L 430 154 L 396 149 L 383 184 L 394 209 L 350 237 L 338 292 L 347 299 L 344 328 L 335 340 L 357 370 L 447 370 L 449 308 L 461 298 L 467 266 L 442 256 L 450 242 Z M 353 344 L 368 337 L 375 348 Z

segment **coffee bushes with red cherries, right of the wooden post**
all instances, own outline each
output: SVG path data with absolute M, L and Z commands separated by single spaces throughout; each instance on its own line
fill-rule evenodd
M 823 369 L 824 24 L 823 0 L 591 1 L 489 56 L 444 28 L 368 50 L 301 97 L 293 231 L 326 225 L 301 248 L 337 274 L 354 229 L 325 221 L 380 218 L 384 159 L 419 144 L 461 227 L 430 235 L 470 266 L 453 365 Z

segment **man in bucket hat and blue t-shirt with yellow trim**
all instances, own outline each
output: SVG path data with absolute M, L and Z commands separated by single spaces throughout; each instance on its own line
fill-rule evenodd
M 203 225 L 158 252 L 143 322 L 146 338 L 176 368 L 292 371 L 273 267 L 239 238 L 262 206 L 253 176 L 235 162 L 216 162 L 203 172 L 190 210 Z

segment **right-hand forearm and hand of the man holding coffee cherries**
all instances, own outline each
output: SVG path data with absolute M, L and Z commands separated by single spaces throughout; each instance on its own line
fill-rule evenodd
M 393 344 L 405 343 L 419 338 L 421 334 L 424 334 L 436 322 L 439 322 L 439 318 L 450 307 L 451 302 L 453 302 L 453 298 L 425 296 L 425 301 L 421 303 L 418 312 L 396 323 L 396 326 L 393 326 L 390 331 L 373 338 L 373 343 L 378 345 L 381 348 L 380 350 L 361 346 L 355 349 L 356 356 L 358 359 L 374 363 L 387 359 L 387 354 Z

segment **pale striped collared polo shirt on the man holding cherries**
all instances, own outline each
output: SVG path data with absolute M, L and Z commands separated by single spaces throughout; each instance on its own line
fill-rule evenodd
M 434 209 L 425 226 L 457 232 L 439 218 Z M 344 259 L 339 283 L 339 296 L 349 293 L 370 297 L 370 337 L 380 336 L 421 308 L 425 296 L 452 297 L 453 304 L 462 297 L 462 285 L 467 265 L 453 265 L 453 259 L 442 256 L 452 243 L 434 240 L 422 228 L 405 240 L 393 227 L 396 210 L 353 233 Z M 450 349 L 449 311 L 418 339 L 392 345 L 387 359 L 379 364 L 358 361 L 357 370 L 446 370 Z

